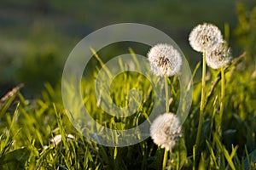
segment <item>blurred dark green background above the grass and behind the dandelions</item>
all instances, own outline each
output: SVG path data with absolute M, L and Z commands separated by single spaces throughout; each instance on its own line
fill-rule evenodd
M 40 95 L 45 82 L 60 84 L 68 54 L 82 38 L 123 22 L 166 32 L 183 50 L 191 70 L 201 55 L 190 48 L 189 32 L 210 22 L 224 33 L 227 24 L 234 57 L 247 50 L 247 63 L 255 69 L 255 6 L 255 0 L 1 0 L 0 97 L 19 83 L 25 84 L 27 97 Z M 143 50 L 147 54 L 148 48 Z

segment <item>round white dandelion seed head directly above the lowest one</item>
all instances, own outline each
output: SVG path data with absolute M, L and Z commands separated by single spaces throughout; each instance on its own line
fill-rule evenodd
M 176 74 L 182 65 L 182 56 L 169 44 L 157 44 L 148 52 L 151 71 L 157 76 L 171 77 Z

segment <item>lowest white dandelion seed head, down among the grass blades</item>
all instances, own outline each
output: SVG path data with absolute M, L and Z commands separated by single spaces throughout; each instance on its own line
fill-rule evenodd
M 179 119 L 173 113 L 158 116 L 150 127 L 150 136 L 154 144 L 171 150 L 177 140 L 183 136 Z

